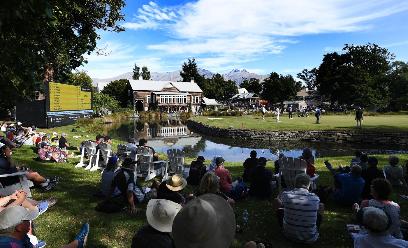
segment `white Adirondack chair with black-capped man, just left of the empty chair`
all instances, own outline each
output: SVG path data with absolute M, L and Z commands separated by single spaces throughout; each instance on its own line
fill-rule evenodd
M 136 166 L 134 173 L 136 177 L 146 177 L 144 181 L 149 181 L 160 175 L 164 171 L 164 161 L 153 162 L 153 151 L 146 146 L 138 146 L 136 148 L 137 157 L 139 157 L 140 165 Z M 160 168 L 155 169 L 155 164 L 160 164 Z

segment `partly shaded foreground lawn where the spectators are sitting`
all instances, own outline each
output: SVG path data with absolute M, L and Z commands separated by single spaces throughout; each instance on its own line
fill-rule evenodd
M 398 118 L 398 116 L 395 118 Z M 95 139 L 95 134 L 83 133 L 80 128 L 77 128 L 77 133 L 71 133 L 72 128 L 73 126 L 65 126 L 49 129 L 46 132 L 47 134 L 53 131 L 59 134 L 62 132 L 67 133 L 69 135 L 67 140 L 71 141 L 73 146 L 79 146 L 80 142 L 85 139 Z M 44 131 L 44 129 L 41 129 L 41 131 Z M 85 137 L 85 139 L 83 137 L 72 138 L 72 135 L 89 135 L 89 137 Z M 118 142 L 120 141 L 113 140 L 111 145 L 115 147 Z M 33 146 L 23 146 L 22 148 L 15 149 L 12 154 L 15 163 L 21 162 L 46 177 L 60 177 L 59 184 L 49 191 L 31 191 L 33 194 L 32 198 L 36 200 L 46 199 L 49 195 L 54 195 L 58 199 L 55 206 L 47 210 L 44 215 L 35 219 L 35 223 L 39 224 L 39 227 L 35 230 L 39 239 L 46 241 L 47 247 L 58 247 L 67 244 L 78 234 L 82 223 L 86 221 L 90 225 L 87 247 L 130 247 L 132 237 L 137 232 L 137 229 L 147 224 L 146 204 L 136 206 L 139 211 L 135 215 L 130 213 L 129 208 L 114 214 L 97 212 L 95 211 L 96 201 L 100 200 L 100 198 L 93 197 L 92 193 L 100 190 L 100 171 L 85 171 L 84 168 L 74 168 L 79 162 L 79 158 L 69 159 L 68 163 L 42 164 L 34 160 L 36 154 L 33 149 Z M 225 152 L 227 153 L 228 150 Z M 75 153 L 79 154 L 79 151 Z M 401 160 L 408 158 L 408 154 L 398 156 Z M 379 167 L 387 164 L 388 155 L 376 157 L 379 159 Z M 165 157 L 161 155 L 160 158 L 164 159 Z M 327 159 L 335 167 L 339 163 L 348 164 L 351 157 L 331 157 Z M 186 159 L 187 162 L 191 160 Z M 330 172 L 324 166 L 324 160 L 326 158 L 316 159 L 316 173 L 320 175 L 317 184 L 330 186 L 333 179 Z M 225 167 L 231 172 L 233 178 L 242 175 L 242 162 L 226 162 Z M 267 167 L 273 170 L 273 163 L 268 162 Z M 160 178 L 159 181 L 161 181 Z M 184 193 L 189 193 L 194 188 L 193 186 L 187 186 Z M 407 219 L 408 211 L 406 209 L 408 202 L 398 196 L 401 193 L 404 193 L 404 189 L 396 187 L 390 200 L 397 202 L 401 206 L 402 216 L 404 219 Z M 276 195 L 277 190 L 275 190 L 274 197 Z M 233 209 L 239 215 L 237 224 L 241 226 L 244 233 L 237 233 L 235 235 L 231 247 L 242 247 L 246 241 L 250 240 L 269 241 L 275 247 L 297 247 L 299 245 L 304 247 L 353 247 L 352 239 L 344 230 L 344 224 L 357 224 L 357 222 L 353 220 L 351 208 L 335 206 L 333 204 L 333 197 L 328 197 L 325 203 L 326 211 L 319 230 L 319 239 L 315 244 L 311 245 L 295 243 L 284 237 L 282 230 L 277 225 L 272 201 L 273 198 L 259 199 L 248 197 L 236 202 Z M 243 228 L 242 213 L 245 209 L 248 210 L 250 216 L 248 226 Z

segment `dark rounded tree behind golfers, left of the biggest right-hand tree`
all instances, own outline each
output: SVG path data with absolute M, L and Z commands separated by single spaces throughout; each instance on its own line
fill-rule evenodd
M 293 79 L 291 75 L 283 76 L 273 72 L 264 80 L 263 98 L 273 103 L 280 102 L 283 109 L 284 101 L 296 100 L 297 93 L 302 87 L 302 83 Z

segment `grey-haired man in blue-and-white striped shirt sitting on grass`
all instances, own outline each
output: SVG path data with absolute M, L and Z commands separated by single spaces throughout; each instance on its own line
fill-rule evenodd
M 282 200 L 273 200 L 278 224 L 293 241 L 313 243 L 319 237 L 317 230 L 322 224 L 324 205 L 319 203 L 319 197 L 309 193 L 310 184 L 309 175 L 299 174 L 295 189 L 284 191 Z

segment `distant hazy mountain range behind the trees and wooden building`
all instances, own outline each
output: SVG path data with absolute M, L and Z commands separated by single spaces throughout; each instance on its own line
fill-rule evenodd
M 172 72 L 165 72 L 165 73 L 158 73 L 158 72 L 151 72 L 150 76 L 151 79 L 153 80 L 157 80 L 157 81 L 178 81 L 178 80 L 182 80 L 182 77 L 180 76 L 180 71 L 181 70 L 177 70 L 177 71 L 172 71 Z M 198 68 L 198 73 L 200 73 L 200 75 L 204 75 L 204 77 L 206 78 L 212 78 L 213 75 L 215 73 L 208 71 L 206 69 L 202 69 L 202 68 Z M 111 82 L 114 80 L 118 80 L 118 79 L 132 79 L 132 75 L 133 72 L 126 72 L 122 75 L 113 77 L 113 78 L 92 78 L 93 84 L 96 85 L 96 82 Z M 269 77 L 269 74 L 267 75 L 258 75 L 255 73 L 250 73 L 248 71 L 246 71 L 245 69 L 242 69 L 241 71 L 239 71 L 238 69 L 234 69 L 231 70 L 228 73 L 224 73 L 222 74 L 224 76 L 225 80 L 231 79 L 233 81 L 235 81 L 235 83 L 237 85 L 241 84 L 243 79 L 242 78 L 246 78 L 246 79 L 251 79 L 251 78 L 257 78 L 259 79 L 261 82 L 265 79 Z

